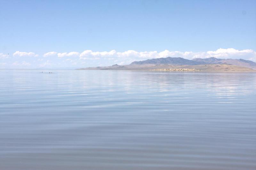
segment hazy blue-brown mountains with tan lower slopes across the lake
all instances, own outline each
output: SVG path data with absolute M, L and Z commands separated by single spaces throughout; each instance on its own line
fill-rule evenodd
M 89 67 L 84 70 L 152 70 L 189 68 L 196 70 L 222 71 L 256 71 L 256 63 L 244 59 L 195 58 L 188 60 L 181 57 L 154 58 L 144 61 L 134 61 L 128 65 L 112 65 L 107 67 Z

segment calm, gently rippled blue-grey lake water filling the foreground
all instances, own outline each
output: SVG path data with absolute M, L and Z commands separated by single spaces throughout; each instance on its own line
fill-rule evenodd
M 256 169 L 256 73 L 0 70 L 0 169 Z

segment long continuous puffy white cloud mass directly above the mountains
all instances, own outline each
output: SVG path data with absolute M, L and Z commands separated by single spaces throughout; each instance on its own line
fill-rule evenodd
M 164 50 L 162 52 L 157 51 L 144 51 L 138 52 L 134 50 L 127 50 L 124 52 L 116 52 L 116 50 L 111 50 L 109 52 L 93 52 L 92 50 L 85 50 L 79 55 L 80 59 L 83 60 L 95 60 L 95 59 L 108 59 L 108 61 L 115 61 L 120 64 L 129 64 L 132 61 L 140 61 L 152 58 L 161 58 L 161 57 L 182 57 L 186 59 L 193 58 L 233 58 L 233 59 L 247 59 L 256 61 L 256 52 L 252 49 L 237 50 L 234 48 L 219 48 L 216 51 L 206 51 L 206 52 L 192 52 L 192 51 L 169 51 Z

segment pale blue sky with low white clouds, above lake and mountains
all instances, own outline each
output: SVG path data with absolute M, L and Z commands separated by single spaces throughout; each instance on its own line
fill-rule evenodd
M 256 62 L 255 0 L 0 0 L 1 69 L 159 57 Z

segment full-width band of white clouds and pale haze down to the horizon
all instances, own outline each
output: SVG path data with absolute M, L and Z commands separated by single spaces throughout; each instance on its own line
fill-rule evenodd
M 36 58 L 35 58 L 36 57 Z M 50 57 L 50 58 L 47 58 Z M 127 50 L 118 52 L 92 51 L 83 52 L 46 52 L 42 55 L 34 52 L 16 51 L 12 55 L 0 53 L 1 68 L 80 68 L 108 66 L 113 64 L 130 64 L 133 61 L 141 61 L 161 57 L 182 57 L 186 59 L 194 58 L 232 58 L 245 59 L 256 62 L 256 52 L 252 49 L 238 50 L 234 48 L 219 48 L 215 51 L 193 52 L 193 51 L 135 51 Z M 46 60 L 47 58 L 47 60 Z

